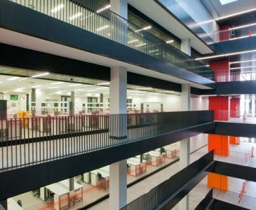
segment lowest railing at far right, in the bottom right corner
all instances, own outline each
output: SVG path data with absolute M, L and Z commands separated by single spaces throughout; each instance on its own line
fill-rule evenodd
M 243 207 L 245 209 L 256 210 L 255 197 L 249 197 L 247 195 L 243 195 L 243 197 L 241 197 L 241 200 L 239 202 L 239 196 L 240 195 L 238 193 L 213 189 L 213 197 L 216 200 L 221 200 L 229 204 L 234 204 L 236 206 Z

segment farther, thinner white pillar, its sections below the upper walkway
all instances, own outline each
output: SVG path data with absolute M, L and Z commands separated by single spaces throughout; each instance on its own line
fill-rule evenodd
M 190 85 L 182 85 L 181 111 L 190 111 Z M 180 170 L 189 165 L 190 160 L 190 138 L 180 141 Z M 180 210 L 189 209 L 189 195 L 179 203 Z

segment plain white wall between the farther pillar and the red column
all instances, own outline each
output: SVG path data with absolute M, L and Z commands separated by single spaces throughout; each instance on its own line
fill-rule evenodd
M 191 97 L 191 111 L 208 110 L 209 99 L 205 97 Z M 208 144 L 208 134 L 199 134 L 190 138 L 190 153 Z

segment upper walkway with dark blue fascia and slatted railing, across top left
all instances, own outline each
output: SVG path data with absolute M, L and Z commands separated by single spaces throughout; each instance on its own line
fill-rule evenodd
M 11 30 L 1 29 L 3 43 L 14 42 L 8 37 L 20 36 L 13 32 L 18 31 L 201 85 L 214 85 L 213 71 L 207 66 L 94 1 L 1 0 L 0 9 L 1 27 Z

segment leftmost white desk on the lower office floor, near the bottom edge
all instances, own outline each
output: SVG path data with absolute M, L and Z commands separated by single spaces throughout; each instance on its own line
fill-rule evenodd
M 70 207 L 69 190 L 59 183 L 53 183 L 45 188 L 54 193 L 54 209 L 62 210 Z

